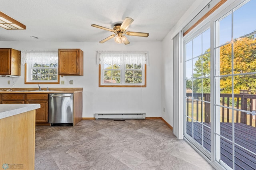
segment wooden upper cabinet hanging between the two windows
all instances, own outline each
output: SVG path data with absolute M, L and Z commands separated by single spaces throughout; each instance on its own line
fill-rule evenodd
M 59 49 L 59 75 L 84 75 L 84 52 L 81 49 Z

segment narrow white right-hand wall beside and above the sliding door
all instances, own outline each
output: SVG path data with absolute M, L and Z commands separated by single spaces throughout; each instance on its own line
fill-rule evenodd
M 173 127 L 173 40 L 210 0 L 196 0 L 162 41 L 162 118 Z M 165 112 L 163 112 L 165 107 Z

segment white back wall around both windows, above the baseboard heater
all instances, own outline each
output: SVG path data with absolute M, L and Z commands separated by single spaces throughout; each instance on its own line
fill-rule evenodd
M 0 48 L 18 50 L 58 51 L 58 48 L 80 48 L 84 51 L 84 76 L 64 76 L 65 85 L 41 85 L 51 87 L 82 87 L 83 117 L 95 113 L 146 113 L 146 117 L 161 117 L 162 43 L 131 42 L 129 45 L 115 42 L 0 42 Z M 148 51 L 147 87 L 98 87 L 97 51 Z M 0 77 L 0 88 L 37 87 L 24 84 L 24 65 L 18 78 Z M 7 85 L 7 80 L 11 85 Z M 69 81 L 74 84 L 70 85 Z

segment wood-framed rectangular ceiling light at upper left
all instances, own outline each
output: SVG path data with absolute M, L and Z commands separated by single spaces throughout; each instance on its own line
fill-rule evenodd
M 0 11 L 0 27 L 6 30 L 26 30 L 26 26 Z

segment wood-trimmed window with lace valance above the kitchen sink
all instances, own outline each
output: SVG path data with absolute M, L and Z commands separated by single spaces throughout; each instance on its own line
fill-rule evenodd
M 25 84 L 59 84 L 58 53 L 22 51 Z

